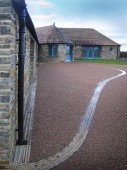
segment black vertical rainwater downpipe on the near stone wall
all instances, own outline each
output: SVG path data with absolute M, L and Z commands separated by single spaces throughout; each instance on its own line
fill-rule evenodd
M 18 140 L 17 145 L 25 145 L 24 140 L 24 63 L 25 63 L 25 22 L 26 6 L 19 12 L 19 52 L 18 52 Z

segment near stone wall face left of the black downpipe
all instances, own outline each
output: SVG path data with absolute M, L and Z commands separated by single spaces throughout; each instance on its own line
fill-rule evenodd
M 11 0 L 0 0 L 0 166 L 11 162 L 16 129 L 18 20 L 14 14 Z

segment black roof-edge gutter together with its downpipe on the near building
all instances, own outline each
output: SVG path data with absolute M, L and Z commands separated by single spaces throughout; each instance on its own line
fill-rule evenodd
M 25 145 L 24 140 L 24 64 L 25 64 L 25 27 L 27 26 L 38 42 L 33 22 L 26 9 L 25 0 L 12 0 L 13 7 L 19 19 L 19 52 L 18 52 L 18 140 L 17 145 Z

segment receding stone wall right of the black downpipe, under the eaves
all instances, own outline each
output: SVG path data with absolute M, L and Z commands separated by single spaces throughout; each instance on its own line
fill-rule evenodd
M 37 51 L 38 45 L 32 34 L 26 27 L 26 56 L 25 56 L 25 72 L 24 72 L 24 107 L 26 108 L 27 101 L 30 95 L 31 84 L 36 79 L 37 72 Z M 25 109 L 24 108 L 24 109 Z

